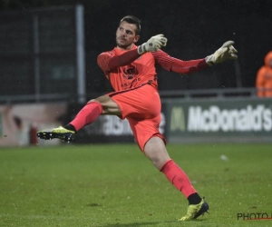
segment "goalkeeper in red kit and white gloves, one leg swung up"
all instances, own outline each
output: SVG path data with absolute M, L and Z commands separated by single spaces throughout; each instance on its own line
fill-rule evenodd
M 90 100 L 71 123 L 37 133 L 41 139 L 58 138 L 70 141 L 83 126 L 94 122 L 101 114 L 115 114 L 127 119 L 141 152 L 151 163 L 188 199 L 188 212 L 180 219 L 187 221 L 209 211 L 209 205 L 191 185 L 189 177 L 171 158 L 166 149 L 166 140 L 159 132 L 160 96 L 155 64 L 178 74 L 189 74 L 219 64 L 227 59 L 236 59 L 234 42 L 223 44 L 206 58 L 182 61 L 161 50 L 166 46 L 164 35 L 152 36 L 139 46 L 140 20 L 125 16 L 116 31 L 117 46 L 99 54 L 97 63 L 115 92 Z

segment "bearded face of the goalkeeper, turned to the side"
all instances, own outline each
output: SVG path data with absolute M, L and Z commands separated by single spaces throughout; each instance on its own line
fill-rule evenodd
M 125 21 L 121 22 L 116 31 L 117 46 L 124 50 L 130 50 L 131 46 L 140 38 L 140 35 L 136 35 L 136 29 L 136 25 L 129 24 Z

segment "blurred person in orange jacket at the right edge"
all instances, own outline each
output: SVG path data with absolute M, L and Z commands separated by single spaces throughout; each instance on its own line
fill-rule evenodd
M 265 56 L 265 64 L 257 71 L 257 96 L 272 97 L 272 51 Z

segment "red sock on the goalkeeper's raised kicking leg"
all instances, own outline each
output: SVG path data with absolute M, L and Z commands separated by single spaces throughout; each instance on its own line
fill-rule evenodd
M 100 114 L 102 114 L 102 104 L 91 102 L 83 107 L 70 124 L 79 131 L 83 126 L 94 122 Z

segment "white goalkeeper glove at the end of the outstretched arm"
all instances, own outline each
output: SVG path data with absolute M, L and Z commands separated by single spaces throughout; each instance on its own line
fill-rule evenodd
M 232 46 L 233 41 L 227 41 L 223 44 L 214 54 L 211 54 L 205 58 L 207 64 L 218 64 L 226 61 L 227 59 L 237 59 L 238 51 Z

